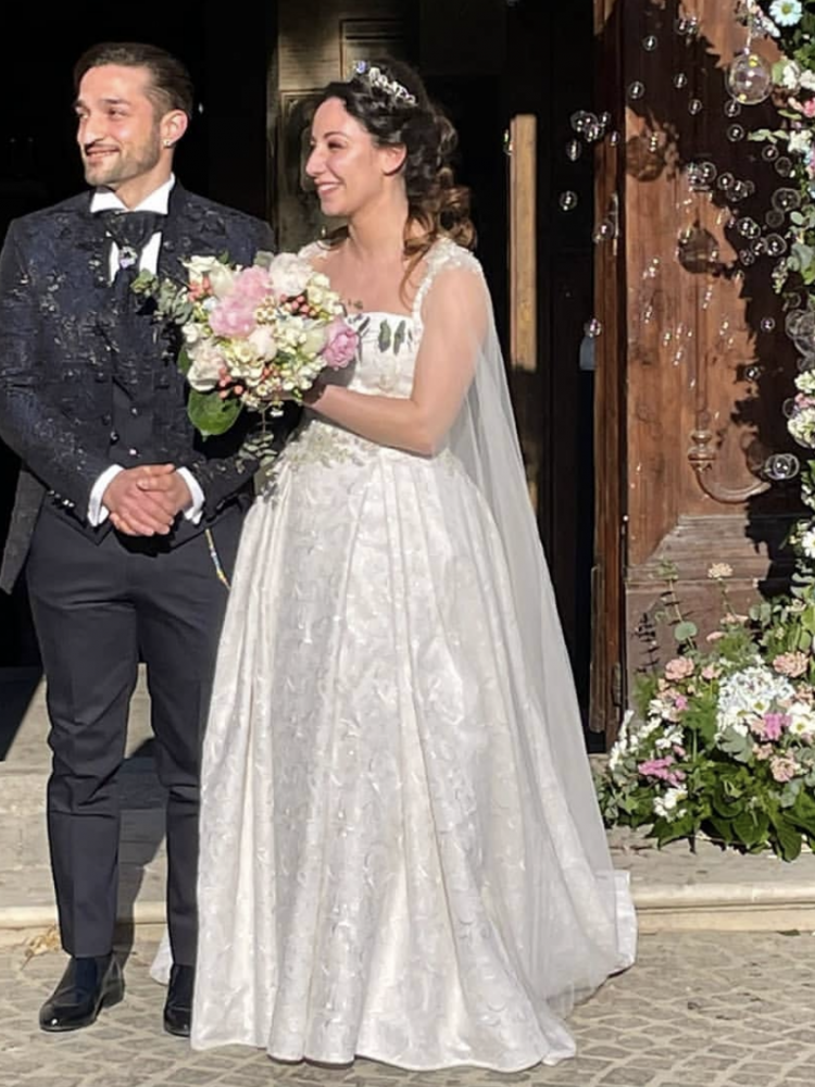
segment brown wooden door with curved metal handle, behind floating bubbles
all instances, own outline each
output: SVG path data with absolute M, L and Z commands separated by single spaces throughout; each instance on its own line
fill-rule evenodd
M 794 365 L 766 253 L 781 171 L 747 138 L 773 109 L 728 91 L 734 5 L 597 0 L 595 24 L 619 125 L 598 148 L 597 215 L 614 229 L 595 262 L 592 727 L 613 737 L 637 670 L 670 651 L 663 560 L 703 632 L 719 616 L 712 562 L 734 567 L 740 609 L 775 576 L 795 500 L 766 465 L 790 447 Z

